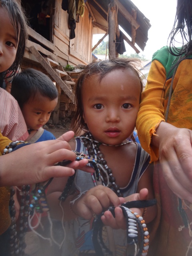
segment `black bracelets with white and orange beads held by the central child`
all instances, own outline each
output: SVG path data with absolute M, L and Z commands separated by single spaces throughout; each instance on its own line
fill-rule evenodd
M 149 248 L 149 232 L 146 227 L 145 221 L 142 216 L 138 215 L 136 212 L 132 212 L 129 208 L 144 208 L 153 206 L 156 204 L 156 199 L 152 200 L 143 200 L 143 201 L 131 201 L 122 204 L 120 208 L 126 218 L 126 232 L 127 232 L 127 243 L 128 245 L 136 244 L 138 246 L 137 256 L 146 256 Z M 114 213 L 115 207 L 110 207 L 108 210 L 115 217 Z M 106 247 L 102 240 L 102 228 L 103 223 L 101 220 L 101 216 L 104 214 L 100 214 L 97 216 L 94 221 L 92 242 L 94 245 L 94 249 L 96 251 L 96 255 L 104 256 L 104 255 L 112 255 L 112 252 Z M 138 239 L 138 234 L 140 234 L 140 239 Z M 139 244 L 140 241 L 140 244 Z

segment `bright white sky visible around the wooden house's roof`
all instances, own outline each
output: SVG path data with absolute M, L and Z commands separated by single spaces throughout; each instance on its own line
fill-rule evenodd
M 150 20 L 151 28 L 148 31 L 148 41 L 144 51 L 140 51 L 140 56 L 144 55 L 149 60 L 152 54 L 162 46 L 167 44 L 167 39 L 174 24 L 176 14 L 176 0 L 132 0 L 135 6 Z M 99 35 L 93 45 L 102 37 Z M 127 43 L 124 54 L 135 53 Z M 138 48 L 138 47 L 137 47 Z M 139 49 L 139 48 L 138 48 Z

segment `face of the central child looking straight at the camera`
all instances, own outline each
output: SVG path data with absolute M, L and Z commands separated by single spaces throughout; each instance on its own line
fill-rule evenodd
M 95 140 L 116 145 L 135 128 L 141 86 L 129 69 L 113 70 L 101 82 L 90 76 L 82 86 L 83 118 Z

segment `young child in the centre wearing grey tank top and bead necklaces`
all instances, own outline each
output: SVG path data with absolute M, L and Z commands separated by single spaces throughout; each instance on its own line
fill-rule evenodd
M 56 178 L 48 188 L 52 217 L 68 221 L 62 255 L 96 255 L 91 241 L 95 214 L 130 200 L 154 198 L 149 155 L 139 143 L 127 140 L 135 128 L 142 92 L 135 64 L 136 60 L 127 58 L 90 63 L 76 83 L 77 112 L 72 127 L 75 132 L 79 128 L 88 132 L 71 141 L 71 146 L 99 160 L 102 168 L 99 180 L 96 172 L 86 174 L 78 170 L 64 202 L 58 198 L 66 179 Z M 115 209 L 117 216 L 121 216 L 119 210 Z M 144 213 L 144 209 L 135 210 L 140 215 Z M 148 208 L 146 223 L 155 216 L 156 206 Z M 102 216 L 104 224 L 110 219 L 110 226 L 119 228 L 112 232 L 114 248 L 110 250 L 113 255 L 127 255 L 126 233 L 120 229 L 126 228 L 125 220 L 111 218 L 108 212 Z M 103 236 L 108 246 L 110 236 L 105 231 Z

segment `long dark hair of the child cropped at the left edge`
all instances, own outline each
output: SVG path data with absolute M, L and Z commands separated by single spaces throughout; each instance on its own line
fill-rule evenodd
M 10 73 L 10 76 L 14 76 L 25 53 L 27 40 L 27 20 L 22 7 L 16 0 L 0 0 L 0 7 L 4 8 L 5 12 L 7 12 L 17 36 L 18 49 L 16 52 L 16 58 L 10 68 L 6 70 L 6 72 L 3 72 L 4 77 L 10 71 L 13 71 Z

